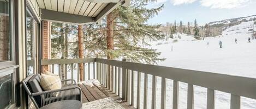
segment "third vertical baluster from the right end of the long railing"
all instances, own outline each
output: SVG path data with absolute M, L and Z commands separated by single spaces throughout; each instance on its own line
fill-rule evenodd
M 188 84 L 187 109 L 194 108 L 194 85 Z

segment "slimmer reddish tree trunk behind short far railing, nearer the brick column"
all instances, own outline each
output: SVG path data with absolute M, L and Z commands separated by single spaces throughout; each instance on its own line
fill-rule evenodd
M 83 25 L 78 25 L 78 54 L 79 58 L 84 58 L 84 39 L 83 39 L 83 31 L 82 31 Z M 79 63 L 79 74 L 80 74 L 80 81 L 84 80 L 84 65 L 83 63 Z

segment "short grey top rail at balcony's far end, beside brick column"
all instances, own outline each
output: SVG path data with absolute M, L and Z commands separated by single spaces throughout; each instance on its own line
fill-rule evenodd
M 95 58 L 91 59 L 49 59 L 41 60 L 41 65 L 58 65 L 58 64 L 72 64 L 72 63 L 87 63 L 96 62 Z

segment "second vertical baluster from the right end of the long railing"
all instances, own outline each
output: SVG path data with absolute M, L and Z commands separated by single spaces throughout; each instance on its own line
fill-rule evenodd
M 215 91 L 207 88 L 207 109 L 215 109 Z

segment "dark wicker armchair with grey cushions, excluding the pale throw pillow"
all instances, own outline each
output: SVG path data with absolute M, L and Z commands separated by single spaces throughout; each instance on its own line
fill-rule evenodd
M 61 100 L 81 101 L 81 89 L 76 86 L 75 80 L 62 80 L 63 87 L 61 89 L 43 91 L 40 86 L 40 78 L 40 74 L 32 74 L 21 81 L 24 89 L 36 108 Z M 68 85 L 68 82 L 72 82 L 72 85 Z

